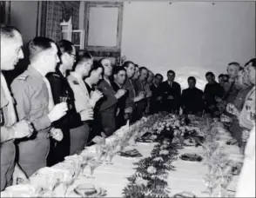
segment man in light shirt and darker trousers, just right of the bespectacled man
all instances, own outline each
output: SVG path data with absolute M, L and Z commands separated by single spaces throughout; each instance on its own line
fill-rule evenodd
M 93 91 L 93 96 L 92 94 L 89 95 L 84 82 L 84 77 L 89 76 L 92 63 L 92 56 L 89 53 L 84 53 L 83 56 L 79 56 L 74 71 L 68 76 L 68 81 L 75 95 L 77 112 L 87 112 L 83 124 L 76 129 L 71 129 L 71 155 L 81 152 L 87 145 L 91 132 L 89 123 L 93 120 L 93 109 L 98 99 L 102 97 L 99 91 Z

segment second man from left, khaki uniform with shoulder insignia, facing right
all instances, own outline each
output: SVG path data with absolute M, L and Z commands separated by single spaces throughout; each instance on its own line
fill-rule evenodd
M 49 153 L 49 136 L 62 139 L 61 130 L 51 129 L 51 123 L 66 114 L 67 103 L 54 106 L 51 86 L 45 75 L 55 70 L 59 62 L 57 46 L 46 37 L 35 37 L 29 43 L 30 65 L 12 82 L 11 89 L 17 101 L 19 120 L 32 122 L 37 134 L 18 143 L 19 164 L 30 177 L 46 166 Z M 51 133 L 50 133 L 51 132 Z

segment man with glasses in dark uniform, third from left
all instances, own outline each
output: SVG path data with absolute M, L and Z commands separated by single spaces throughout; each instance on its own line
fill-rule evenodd
M 51 84 L 54 103 L 68 102 L 69 111 L 63 118 L 53 123 L 57 129 L 63 131 L 64 138 L 61 142 L 51 141 L 52 148 L 48 157 L 49 166 L 64 161 L 64 157 L 70 154 L 70 129 L 77 128 L 81 125 L 84 116 L 86 115 L 86 112 L 84 111 L 77 113 L 74 103 L 74 93 L 65 77 L 67 71 L 72 69 L 72 66 L 76 61 L 75 47 L 73 43 L 66 40 L 58 42 L 57 45 L 60 50 L 59 56 L 61 64 L 58 65 L 55 72 L 48 73 L 46 77 Z

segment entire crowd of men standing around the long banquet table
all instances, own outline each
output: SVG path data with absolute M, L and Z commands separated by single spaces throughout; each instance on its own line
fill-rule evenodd
M 1 24 L 1 190 L 144 115 L 224 114 L 232 119 L 232 143 L 241 148 L 253 129 L 256 59 L 245 67 L 229 63 L 219 83 L 207 72 L 204 91 L 190 76 L 182 91 L 173 70 L 163 82 L 131 61 L 113 66 L 88 52 L 77 56 L 70 41 L 37 36 L 28 44 L 30 64 L 9 88 L 2 71 L 15 69 L 22 47 L 21 33 Z

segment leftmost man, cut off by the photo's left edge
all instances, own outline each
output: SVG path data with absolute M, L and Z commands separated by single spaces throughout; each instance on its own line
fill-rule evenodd
M 14 140 L 30 136 L 33 128 L 28 121 L 17 122 L 14 100 L 10 95 L 2 70 L 12 70 L 19 59 L 24 58 L 22 36 L 14 27 L 1 24 L 1 191 L 14 184 L 17 178 L 25 179 L 16 163 Z

